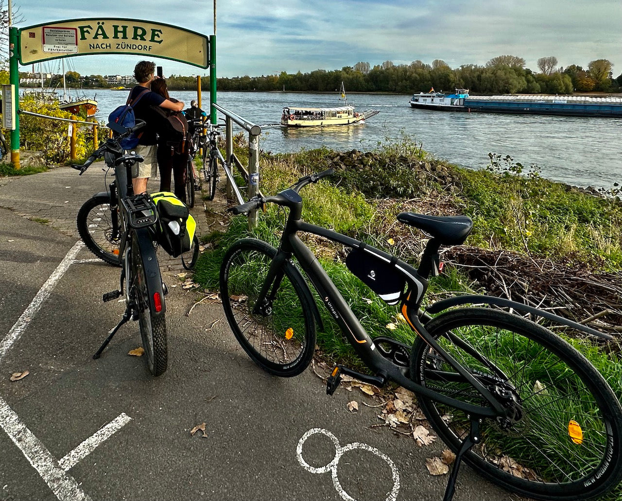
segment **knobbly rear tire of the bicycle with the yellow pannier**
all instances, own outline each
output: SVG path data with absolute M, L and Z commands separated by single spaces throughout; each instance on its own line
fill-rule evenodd
M 142 265 L 136 233 L 132 233 L 130 269 L 132 273 L 130 291 L 133 291 L 134 302 L 138 311 L 138 325 L 141 331 L 142 347 L 145 350 L 147 368 L 154 376 L 161 376 L 166 371 L 168 364 L 166 318 L 165 314 L 154 314 L 149 307 L 147 276 Z

